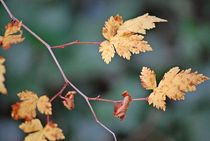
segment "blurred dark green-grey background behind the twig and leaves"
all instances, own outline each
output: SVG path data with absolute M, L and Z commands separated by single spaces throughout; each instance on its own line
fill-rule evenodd
M 139 82 L 143 66 L 157 72 L 158 81 L 173 66 L 192 68 L 210 76 L 209 0 L 6 0 L 15 14 L 50 45 L 69 41 L 102 41 L 101 28 L 111 15 L 124 19 L 150 13 L 168 20 L 147 32 L 153 52 L 133 55 L 131 61 L 116 56 L 106 65 L 98 46 L 74 45 L 54 50 L 70 80 L 86 95 L 121 99 L 128 90 L 132 97 L 146 97 Z M 9 22 L 0 5 L 0 33 Z M 54 95 L 63 84 L 47 49 L 24 31 L 24 43 L 8 51 L 6 58 L 7 96 L 0 95 L 0 140 L 22 141 L 20 122 L 11 119 L 16 94 L 32 90 Z M 71 90 L 69 88 L 69 90 Z M 53 119 L 63 129 L 66 141 L 112 141 L 112 136 L 93 119 L 85 101 L 78 95 L 76 109 L 68 111 L 61 101 L 53 103 Z M 119 141 L 206 141 L 210 139 L 210 82 L 200 85 L 185 101 L 167 102 L 159 111 L 146 102 L 134 102 L 126 120 L 113 117 L 113 105 L 93 102 L 99 119 L 112 129 Z M 45 118 L 40 116 L 43 122 Z

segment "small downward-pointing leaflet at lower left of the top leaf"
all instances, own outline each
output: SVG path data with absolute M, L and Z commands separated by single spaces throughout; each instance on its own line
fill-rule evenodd
M 99 52 L 102 53 L 101 55 L 104 62 L 109 64 L 115 54 L 114 46 L 109 41 L 103 41 L 100 44 Z

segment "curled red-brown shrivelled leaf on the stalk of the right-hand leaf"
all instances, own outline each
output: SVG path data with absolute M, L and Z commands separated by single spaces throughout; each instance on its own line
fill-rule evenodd
M 124 120 L 132 98 L 127 91 L 123 92 L 122 96 L 124 97 L 124 99 L 121 102 L 117 102 L 115 104 L 114 116 L 121 120 Z

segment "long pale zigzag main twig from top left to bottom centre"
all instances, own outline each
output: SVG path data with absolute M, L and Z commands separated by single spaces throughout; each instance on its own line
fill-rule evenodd
M 2 5 L 4 6 L 5 10 L 7 11 L 9 17 L 10 17 L 12 20 L 20 21 L 20 20 L 18 20 L 17 18 L 15 18 L 15 17 L 13 16 L 13 14 L 11 13 L 11 11 L 10 11 L 9 8 L 7 7 L 7 5 L 5 4 L 4 0 L 0 0 L 0 1 L 1 1 Z M 43 39 L 41 39 L 36 33 L 34 33 L 34 32 L 33 32 L 29 27 L 27 27 L 25 24 L 22 24 L 22 27 L 23 27 L 25 30 L 27 30 L 31 35 L 33 35 L 38 41 L 40 41 L 40 42 L 48 49 L 50 55 L 51 55 L 52 58 L 53 58 L 53 61 L 55 62 L 56 66 L 58 67 L 58 69 L 59 69 L 59 71 L 60 71 L 60 73 L 61 73 L 61 75 L 62 75 L 64 81 L 65 81 L 66 83 L 68 83 L 75 91 L 77 91 L 77 92 L 85 99 L 85 101 L 87 102 L 87 104 L 88 104 L 88 106 L 89 106 L 89 108 L 90 108 L 90 110 L 91 110 L 91 112 L 92 112 L 92 114 L 93 114 L 93 116 L 94 116 L 96 122 L 97 122 L 99 125 L 101 125 L 104 129 L 106 129 L 108 132 L 110 132 L 110 133 L 113 135 L 114 140 L 117 141 L 117 138 L 116 138 L 114 132 L 112 132 L 108 127 L 106 127 L 103 123 L 101 123 L 101 122 L 98 120 L 98 118 L 97 118 L 97 116 L 96 116 L 96 114 L 95 114 L 95 111 L 93 110 L 93 107 L 92 107 L 92 105 L 90 104 L 90 101 L 88 100 L 88 97 L 87 97 L 84 93 L 82 93 L 76 86 L 74 86 L 74 85 L 67 79 L 67 77 L 66 77 L 66 75 L 65 75 L 65 73 L 64 73 L 64 71 L 63 71 L 63 69 L 62 69 L 62 67 L 60 66 L 60 64 L 59 64 L 59 62 L 58 62 L 58 60 L 57 60 L 57 58 L 55 57 L 55 54 L 53 53 L 53 51 L 52 51 L 52 49 L 51 49 L 51 46 L 50 46 L 47 42 L 45 42 Z M 47 119 L 47 120 L 49 120 L 49 119 Z

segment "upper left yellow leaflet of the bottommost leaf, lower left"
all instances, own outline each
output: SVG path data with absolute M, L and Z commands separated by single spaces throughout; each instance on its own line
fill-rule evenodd
M 36 132 L 43 129 L 39 119 L 33 119 L 31 121 L 25 121 L 19 126 L 25 133 Z

